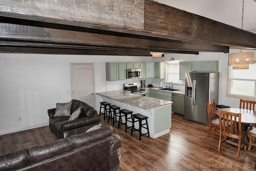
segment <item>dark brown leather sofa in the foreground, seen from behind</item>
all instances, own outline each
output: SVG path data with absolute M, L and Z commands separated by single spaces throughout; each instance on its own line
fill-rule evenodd
M 0 170 L 116 171 L 122 140 L 110 126 L 0 155 Z

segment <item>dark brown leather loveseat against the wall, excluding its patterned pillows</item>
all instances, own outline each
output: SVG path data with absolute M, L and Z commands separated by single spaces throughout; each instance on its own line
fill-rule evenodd
M 100 115 L 94 107 L 82 101 L 72 99 L 70 113 L 72 114 L 76 109 L 83 106 L 82 111 L 77 119 L 68 121 L 70 116 L 54 117 L 56 108 L 48 109 L 49 125 L 59 138 L 70 137 L 79 133 L 84 133 L 90 127 L 97 125 L 100 121 Z

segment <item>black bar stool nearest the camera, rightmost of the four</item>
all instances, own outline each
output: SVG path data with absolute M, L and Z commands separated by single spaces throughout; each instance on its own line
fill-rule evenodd
M 138 119 L 137 121 L 134 121 L 134 119 Z M 143 120 L 145 120 L 146 121 L 146 123 L 143 123 L 142 124 L 142 121 Z M 134 123 L 135 122 L 139 122 L 139 128 L 138 129 L 136 129 L 135 127 L 134 127 Z M 144 127 L 143 125 L 146 125 L 146 127 Z M 145 128 L 145 129 L 147 129 L 147 133 L 141 133 L 141 129 L 142 128 Z M 134 130 L 133 130 L 134 129 Z M 141 140 L 141 136 L 143 136 L 143 135 L 146 135 L 146 134 L 148 134 L 148 137 L 150 137 L 150 135 L 149 135 L 149 130 L 148 130 L 148 117 L 147 116 L 144 116 L 144 115 L 142 115 L 142 114 L 140 114 L 140 113 L 136 113 L 136 114 L 134 114 L 134 115 L 132 115 L 132 131 L 131 131 L 131 135 L 132 135 L 132 132 L 134 132 L 134 131 L 139 131 L 140 132 L 140 140 Z

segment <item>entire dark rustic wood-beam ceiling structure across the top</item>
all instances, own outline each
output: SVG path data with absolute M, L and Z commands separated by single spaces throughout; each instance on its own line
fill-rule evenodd
M 150 56 L 256 48 L 256 34 L 152 0 L 1 0 L 0 52 Z

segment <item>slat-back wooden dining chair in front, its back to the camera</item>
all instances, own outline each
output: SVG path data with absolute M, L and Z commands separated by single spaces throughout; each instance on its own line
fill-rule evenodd
M 223 142 L 237 146 L 236 159 L 239 159 L 240 150 L 244 147 L 246 150 L 247 134 L 248 132 L 242 131 L 241 113 L 232 113 L 228 111 L 219 111 L 219 120 L 223 120 L 223 125 L 220 124 L 220 139 L 218 151 L 220 151 Z M 228 123 L 228 124 L 227 124 Z M 224 139 L 222 139 L 222 136 Z

